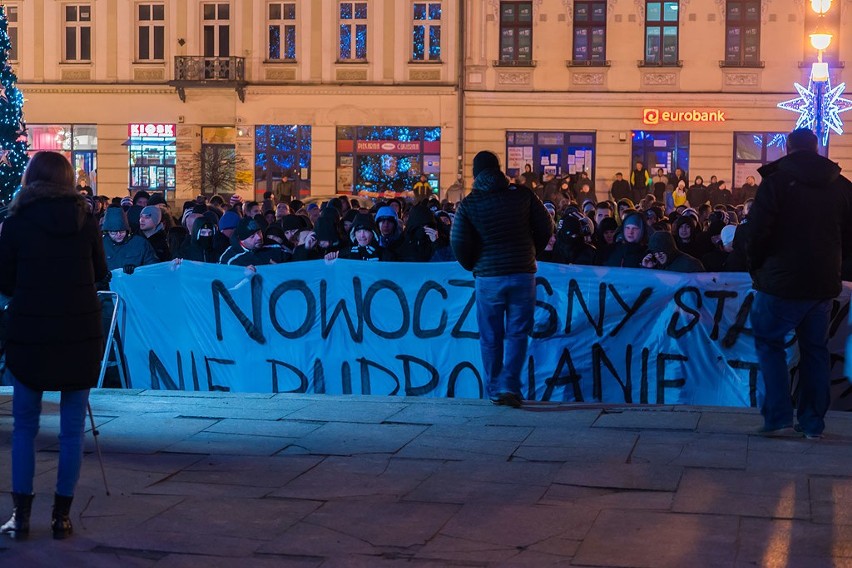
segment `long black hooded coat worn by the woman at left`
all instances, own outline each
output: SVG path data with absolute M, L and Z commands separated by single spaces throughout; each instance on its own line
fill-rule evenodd
M 6 365 L 31 389 L 91 388 L 103 357 L 95 283 L 107 275 L 98 227 L 73 186 L 30 184 L 10 212 L 0 233 Z

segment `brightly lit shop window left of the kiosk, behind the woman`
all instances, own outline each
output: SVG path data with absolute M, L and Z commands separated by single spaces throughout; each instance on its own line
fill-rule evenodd
M 97 193 L 98 128 L 94 124 L 28 124 L 27 153 L 59 152 L 74 166 L 76 177 L 86 179 Z

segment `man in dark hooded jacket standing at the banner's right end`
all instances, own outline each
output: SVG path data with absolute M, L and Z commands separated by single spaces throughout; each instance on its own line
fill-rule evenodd
M 828 327 L 849 250 L 852 183 L 817 153 L 817 138 L 800 128 L 787 136 L 787 155 L 758 170 L 763 177 L 748 215 L 746 252 L 754 289 L 754 343 L 765 396 L 761 432 L 793 425 L 784 344 L 799 343 L 797 430 L 818 438 L 831 402 Z M 791 230 L 793 220 L 797 222 Z

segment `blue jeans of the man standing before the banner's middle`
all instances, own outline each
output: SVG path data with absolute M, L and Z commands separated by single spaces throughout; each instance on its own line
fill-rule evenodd
M 476 320 L 489 396 L 521 396 L 521 369 L 534 315 L 535 274 L 476 278 Z

